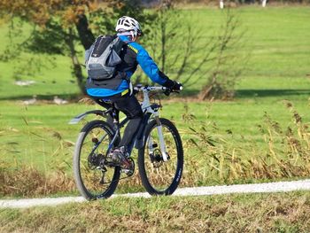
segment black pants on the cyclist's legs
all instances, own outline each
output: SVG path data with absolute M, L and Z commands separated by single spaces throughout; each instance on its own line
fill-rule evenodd
M 130 119 L 119 144 L 119 146 L 128 147 L 128 145 L 132 143 L 133 138 L 136 136 L 136 133 L 143 118 L 141 105 L 139 104 L 136 97 L 134 95 L 111 97 L 111 104 L 103 102 L 100 99 L 95 99 L 95 101 L 97 102 L 97 104 L 102 105 L 105 108 L 109 108 L 113 104 L 117 110 L 125 113 L 126 116 Z M 107 122 L 112 125 L 112 118 L 108 118 Z

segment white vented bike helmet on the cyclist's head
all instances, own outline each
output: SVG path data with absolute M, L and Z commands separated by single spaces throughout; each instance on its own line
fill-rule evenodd
M 130 32 L 134 37 L 137 35 L 142 35 L 139 22 L 128 16 L 122 16 L 119 20 L 117 20 L 115 31 L 119 33 Z

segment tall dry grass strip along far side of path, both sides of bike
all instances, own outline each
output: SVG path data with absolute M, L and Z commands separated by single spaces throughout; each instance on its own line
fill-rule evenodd
M 310 128 L 290 102 L 284 104 L 291 113 L 291 124 L 283 128 L 266 113 L 258 126 L 263 144 L 243 142 L 242 138 L 240 142 L 240 136 L 233 136 L 229 131 L 226 133 L 231 136 L 225 136 L 208 117 L 198 121 L 185 105 L 182 118 L 191 127 L 180 130 L 185 155 L 181 186 L 308 177 Z M 53 151 L 55 159 L 46 165 L 52 167 L 50 171 L 40 172 L 25 164 L 0 164 L 1 196 L 33 197 L 75 190 L 72 172 L 68 173 L 72 169 L 73 143 L 64 140 L 57 131 L 51 133 L 58 146 Z M 70 160 L 63 161 L 62 155 Z M 117 189 L 118 192 L 143 190 L 137 170 L 135 175 L 122 180 Z

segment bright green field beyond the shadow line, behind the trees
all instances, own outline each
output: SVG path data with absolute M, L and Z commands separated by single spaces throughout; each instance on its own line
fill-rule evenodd
M 310 84 L 310 24 L 308 6 L 283 6 L 261 8 L 241 7 L 232 10 L 241 21 L 240 31 L 245 31 L 244 46 L 240 52 L 251 53 L 241 81 L 237 84 L 237 97 L 297 97 L 309 95 Z M 218 9 L 195 9 L 183 11 L 194 25 L 205 31 L 205 36 L 218 35 L 225 13 Z M 0 26 L 5 35 L 7 28 Z M 27 35 L 27 27 L 23 35 Z M 201 38 L 203 41 L 204 38 Z M 8 39 L 0 38 L 0 50 L 4 50 Z M 203 52 L 203 51 L 201 51 Z M 71 76 L 69 58 L 56 56 L 55 67 L 44 68 L 34 75 L 13 75 L 14 67 L 28 69 L 28 55 L 10 63 L 0 62 L 0 99 L 31 97 L 38 95 L 50 98 L 53 95 L 70 97 L 78 93 L 77 85 Z M 44 61 L 46 57 L 34 58 Z M 82 60 L 82 55 L 81 55 Z M 20 66 L 23 64 L 23 66 Z M 46 62 L 43 62 L 46 64 Z M 14 85 L 15 79 L 34 80 L 30 87 Z M 201 89 L 204 80 L 198 80 L 187 92 L 195 93 Z M 12 89 L 14 91 L 12 91 Z

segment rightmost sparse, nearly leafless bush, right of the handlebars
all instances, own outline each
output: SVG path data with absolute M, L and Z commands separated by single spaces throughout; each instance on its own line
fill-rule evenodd
M 200 100 L 211 97 L 231 98 L 235 95 L 236 82 L 250 58 L 249 54 L 241 52 L 245 31 L 239 30 L 239 27 L 239 19 L 228 8 L 220 33 L 215 37 L 214 62 L 198 94 Z

